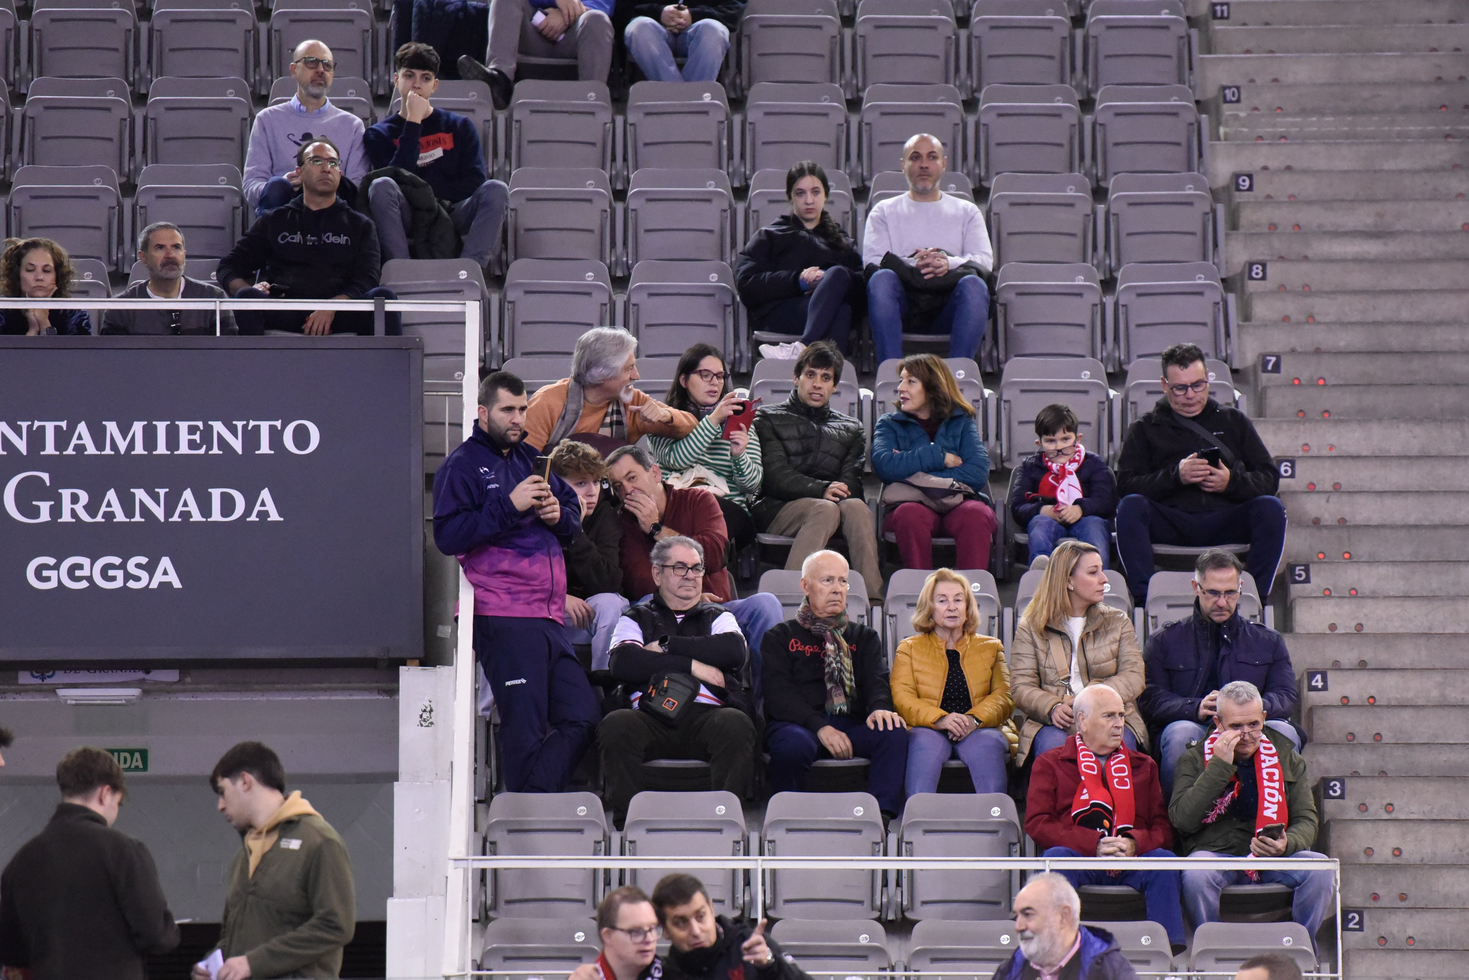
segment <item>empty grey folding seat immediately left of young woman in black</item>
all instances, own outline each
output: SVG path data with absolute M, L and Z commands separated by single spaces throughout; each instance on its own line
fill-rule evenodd
M 692 343 L 734 349 L 734 273 L 724 263 L 643 260 L 627 285 L 627 330 L 645 358 L 677 361 Z

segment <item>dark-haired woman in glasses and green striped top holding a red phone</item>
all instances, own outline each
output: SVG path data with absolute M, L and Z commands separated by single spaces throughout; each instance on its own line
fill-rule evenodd
M 668 387 L 668 406 L 699 420 L 687 436 L 649 436 L 654 459 L 665 477 L 683 477 L 680 486 L 702 486 L 720 499 L 724 527 L 734 547 L 755 541 L 755 521 L 749 508 L 759 494 L 765 467 L 759 459 L 759 436 L 754 425 L 736 428 L 724 437 L 724 421 L 740 408 L 742 399 L 730 390 L 724 355 L 708 343 L 695 343 L 679 358 L 679 368 Z M 702 472 L 695 472 L 698 467 Z M 677 480 L 670 480 L 677 483 Z

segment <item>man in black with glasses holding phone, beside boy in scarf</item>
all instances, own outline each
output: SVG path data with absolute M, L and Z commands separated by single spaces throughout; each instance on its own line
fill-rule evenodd
M 1163 351 L 1163 398 L 1127 430 L 1116 465 L 1116 550 L 1133 600 L 1147 600 L 1153 546 L 1249 544 L 1269 596 L 1285 549 L 1279 472 L 1249 417 L 1209 396 L 1203 351 Z M 1222 379 L 1228 383 L 1228 379 Z

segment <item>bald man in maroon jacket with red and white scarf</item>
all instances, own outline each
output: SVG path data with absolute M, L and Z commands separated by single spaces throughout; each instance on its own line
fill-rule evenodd
M 1093 684 L 1077 695 L 1077 735 L 1036 758 L 1025 797 L 1025 833 L 1043 857 L 1171 858 L 1174 842 L 1158 766 L 1122 744 L 1127 709 L 1112 688 Z M 1138 863 L 1141 864 L 1141 861 Z M 1180 873 L 1163 870 L 1069 871 L 1075 888 L 1127 885 L 1143 892 L 1147 917 L 1184 948 Z

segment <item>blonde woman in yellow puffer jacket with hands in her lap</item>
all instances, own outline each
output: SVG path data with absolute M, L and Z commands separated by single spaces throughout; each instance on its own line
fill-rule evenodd
M 908 795 L 936 792 L 943 763 L 970 767 L 974 792 L 1005 792 L 1015 734 L 1005 647 L 978 635 L 980 607 L 970 581 L 940 568 L 924 582 L 914 612 L 918 635 L 898 644 L 893 704 L 908 722 Z

